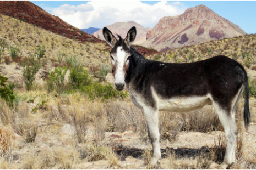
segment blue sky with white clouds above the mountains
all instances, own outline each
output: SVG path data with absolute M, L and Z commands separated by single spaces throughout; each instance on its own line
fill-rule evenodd
M 129 20 L 152 28 L 163 16 L 179 15 L 187 8 L 204 4 L 215 13 L 237 24 L 247 33 L 256 33 L 256 1 L 30 1 L 79 29 L 101 28 L 115 22 Z

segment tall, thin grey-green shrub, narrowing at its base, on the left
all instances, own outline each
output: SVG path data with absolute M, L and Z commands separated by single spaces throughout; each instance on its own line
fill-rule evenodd
M 23 78 L 26 90 L 31 90 L 32 86 L 35 82 L 36 73 L 42 66 L 42 62 L 40 60 L 35 59 L 35 55 L 30 54 L 30 58 L 28 61 L 23 63 Z

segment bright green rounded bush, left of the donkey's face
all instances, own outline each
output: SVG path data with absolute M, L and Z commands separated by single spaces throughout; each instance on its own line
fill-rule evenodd
M 79 88 L 91 84 L 92 78 L 89 76 L 88 71 L 85 69 L 83 63 L 75 62 L 70 69 L 69 83 L 73 88 Z

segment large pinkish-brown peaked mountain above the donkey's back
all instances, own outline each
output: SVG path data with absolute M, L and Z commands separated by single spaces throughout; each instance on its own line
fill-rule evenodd
M 205 5 L 187 9 L 177 16 L 166 16 L 146 33 L 141 46 L 168 50 L 189 46 L 211 39 L 246 35 L 239 26 L 213 12 Z

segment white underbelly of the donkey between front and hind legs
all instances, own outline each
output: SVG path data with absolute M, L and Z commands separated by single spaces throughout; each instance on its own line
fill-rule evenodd
M 159 110 L 171 112 L 189 112 L 198 110 L 206 104 L 211 104 L 211 100 L 207 96 L 159 99 Z

